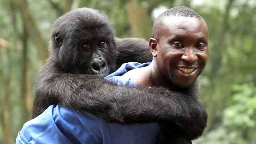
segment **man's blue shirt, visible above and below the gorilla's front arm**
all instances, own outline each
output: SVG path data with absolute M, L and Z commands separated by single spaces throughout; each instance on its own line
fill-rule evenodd
M 129 78 L 119 75 L 149 64 L 125 63 L 105 79 L 118 85 L 135 86 Z M 154 144 L 158 132 L 157 123 L 106 123 L 90 113 L 51 105 L 23 125 L 16 144 Z

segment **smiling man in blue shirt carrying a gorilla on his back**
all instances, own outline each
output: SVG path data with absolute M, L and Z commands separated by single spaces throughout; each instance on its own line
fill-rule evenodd
M 198 13 L 172 8 L 154 23 L 149 40 L 153 61 L 123 64 L 105 79 L 128 86 L 191 87 L 207 63 L 207 42 L 208 28 Z M 52 105 L 24 124 L 16 143 L 153 144 L 158 131 L 157 123 L 110 124 L 89 113 Z

